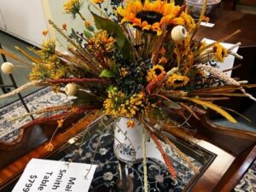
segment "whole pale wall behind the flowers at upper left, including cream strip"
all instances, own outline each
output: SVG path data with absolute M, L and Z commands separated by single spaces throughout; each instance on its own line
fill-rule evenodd
M 0 28 L 17 38 L 39 46 L 42 44 L 42 31 L 49 29 L 50 37 L 56 38 L 65 47 L 67 41 L 49 26 L 48 20 L 53 20 L 57 26 L 67 24 L 68 33 L 71 28 L 75 31 L 84 31 L 84 21 L 79 18 L 73 20 L 71 15 L 64 14 L 63 4 L 67 0 L 0 0 Z M 106 5 L 107 6 L 107 3 Z M 94 12 L 95 9 L 91 8 Z M 84 0 L 81 10 L 86 20 L 93 24 L 88 3 Z M 1 17 L 2 15 L 2 17 Z M 6 26 L 6 27 L 5 27 Z M 60 44 L 58 44 L 59 47 Z

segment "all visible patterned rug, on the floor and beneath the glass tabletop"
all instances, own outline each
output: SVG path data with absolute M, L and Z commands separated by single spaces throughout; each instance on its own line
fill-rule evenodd
M 60 103 L 67 103 L 72 101 L 72 97 L 68 97 L 65 94 L 55 94 L 50 88 L 44 88 L 38 90 L 30 96 L 25 97 L 25 102 L 30 111 L 37 110 L 39 108 L 45 108 L 50 106 L 56 106 Z M 31 121 L 31 117 L 23 119 L 9 121 L 20 115 L 26 113 L 26 109 L 23 107 L 20 101 L 13 102 L 8 106 L 0 109 L 0 142 L 10 143 L 19 136 L 20 127 Z M 34 115 L 34 118 L 38 118 L 39 115 Z M 113 154 L 113 137 L 110 137 L 108 133 L 104 134 L 102 140 L 106 141 L 102 143 L 102 146 L 98 152 L 96 152 L 96 158 L 92 158 L 91 151 L 95 151 L 96 140 L 99 135 L 91 137 L 91 139 L 84 143 L 83 151 L 81 155 L 77 156 L 75 161 L 81 163 L 96 163 L 99 165 L 95 175 L 93 183 L 91 183 L 90 191 L 108 191 L 108 189 L 115 188 L 118 175 L 116 170 L 118 169 L 118 160 Z M 173 151 L 169 151 L 172 157 L 172 162 L 178 170 L 178 180 L 174 182 L 172 177 L 166 170 L 166 166 L 159 160 L 148 159 L 148 181 L 149 189 L 152 191 L 182 191 L 186 183 L 193 177 L 193 173 L 189 171 L 189 167 L 186 166 Z M 70 160 L 73 158 L 74 152 L 68 154 L 62 160 Z M 201 167 L 200 163 L 193 160 L 195 166 Z M 137 163 L 135 165 L 126 165 L 126 172 L 129 177 L 132 178 L 135 184 L 134 191 L 143 191 L 143 165 Z M 96 187 L 98 186 L 98 187 Z M 99 189 L 99 190 L 98 190 Z M 103 190 L 102 190 L 103 189 Z M 156 189 L 156 190 L 155 190 Z M 169 190 L 166 190 L 169 189 Z M 256 160 L 249 168 L 241 182 L 235 188 L 236 192 L 256 192 Z

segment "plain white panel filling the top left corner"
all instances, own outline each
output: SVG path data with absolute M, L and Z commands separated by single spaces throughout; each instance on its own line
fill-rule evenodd
M 3 31 L 31 44 L 42 43 L 47 25 L 41 0 L 0 0 L 0 8 L 6 26 Z

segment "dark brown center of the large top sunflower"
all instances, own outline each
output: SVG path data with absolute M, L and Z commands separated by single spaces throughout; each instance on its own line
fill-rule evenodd
M 149 25 L 153 25 L 155 22 L 160 22 L 163 15 L 154 11 L 140 11 L 136 17 L 142 21 L 146 20 Z

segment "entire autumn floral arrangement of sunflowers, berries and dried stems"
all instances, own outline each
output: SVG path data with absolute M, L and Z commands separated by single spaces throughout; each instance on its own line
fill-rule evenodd
M 201 21 L 208 20 L 204 15 L 207 1 L 196 21 L 188 14 L 186 6 L 177 6 L 172 0 L 117 0 L 109 2 L 108 9 L 103 8 L 103 2 L 89 3 L 89 10 L 93 8 L 96 12 L 91 11 L 95 20 L 92 25 L 81 14 L 83 1 L 67 0 L 65 13 L 73 19 L 84 20 L 84 32 L 69 29 L 67 24 L 57 26 L 49 20 L 49 24 L 67 39 L 67 52 L 59 51 L 57 40 L 51 38 L 45 38 L 41 49 L 31 49 L 38 57 L 17 48 L 32 61 L 27 64 L 32 68 L 31 82 L 0 98 L 35 85 L 49 85 L 56 92 L 76 96 L 72 104 L 32 112 L 55 114 L 35 119 L 31 125 L 56 119 L 61 127 L 68 115 L 92 110 L 100 110 L 112 118 L 136 118 L 150 132 L 172 177 L 176 177 L 159 137 L 172 148 L 176 147 L 150 125 L 179 127 L 182 126 L 180 119 L 186 121 L 188 113 L 199 119 L 198 111 L 205 108 L 236 123 L 230 113 L 212 102 L 230 96 L 247 96 L 255 101 L 245 90 L 253 85 L 231 79 L 207 62 L 222 62 L 227 55 L 241 59 L 241 55 L 232 52 L 239 44 L 230 49 L 220 44 L 237 32 L 212 44 L 195 40 Z M 48 31 L 43 34 L 47 37 Z M 3 49 L 1 53 L 24 63 Z M 2 70 L 12 73 L 13 66 L 5 63 Z M 132 119 L 127 126 L 134 126 Z

